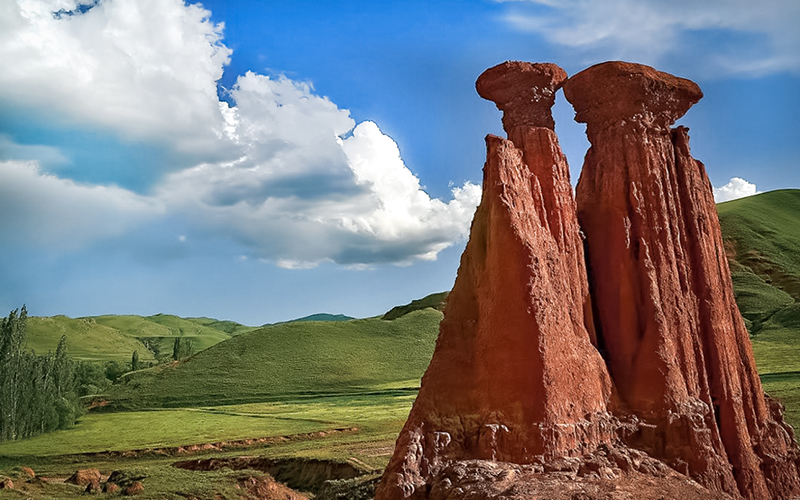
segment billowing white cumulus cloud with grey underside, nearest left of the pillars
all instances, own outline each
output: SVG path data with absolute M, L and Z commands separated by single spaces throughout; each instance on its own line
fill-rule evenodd
M 286 78 L 248 73 L 231 94 L 245 154 L 169 175 L 157 196 L 170 210 L 291 268 L 433 259 L 466 236 L 480 189 L 432 199 L 376 124 Z

